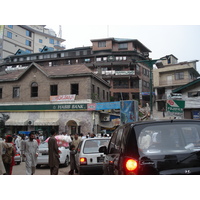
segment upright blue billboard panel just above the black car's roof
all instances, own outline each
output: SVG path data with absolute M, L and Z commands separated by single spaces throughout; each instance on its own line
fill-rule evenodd
M 138 102 L 120 101 L 121 124 L 138 121 Z

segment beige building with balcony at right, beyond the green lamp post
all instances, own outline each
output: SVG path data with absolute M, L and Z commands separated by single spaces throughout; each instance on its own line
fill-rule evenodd
M 200 76 L 196 70 L 198 60 L 178 62 L 174 55 L 167 55 L 163 58 L 166 59 L 157 62 L 157 68 L 153 69 L 155 107 L 158 111 L 166 107 L 166 100 L 171 98 L 173 90 L 196 80 Z

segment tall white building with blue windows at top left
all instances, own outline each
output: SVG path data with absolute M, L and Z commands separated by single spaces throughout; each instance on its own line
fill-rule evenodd
M 41 52 L 45 46 L 62 50 L 64 41 L 45 25 L 0 25 L 0 60 L 18 49 L 24 53 Z

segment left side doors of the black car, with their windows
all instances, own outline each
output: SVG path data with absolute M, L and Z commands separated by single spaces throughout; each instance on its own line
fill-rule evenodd
M 106 172 L 107 174 L 118 174 L 119 173 L 119 157 L 121 153 L 120 145 L 121 145 L 121 137 L 123 134 L 123 128 L 117 129 L 111 138 L 108 154 L 105 158 L 106 163 Z

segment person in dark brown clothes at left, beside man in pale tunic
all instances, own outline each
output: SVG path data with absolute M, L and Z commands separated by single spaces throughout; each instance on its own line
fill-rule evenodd
M 12 175 L 12 169 L 15 165 L 14 157 L 16 153 L 16 148 L 14 143 L 12 142 L 13 138 L 11 135 L 6 136 L 6 143 L 8 148 L 5 149 L 5 154 L 2 155 L 4 167 L 6 170 L 6 175 Z

